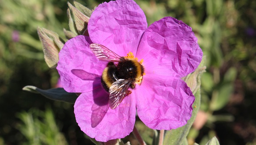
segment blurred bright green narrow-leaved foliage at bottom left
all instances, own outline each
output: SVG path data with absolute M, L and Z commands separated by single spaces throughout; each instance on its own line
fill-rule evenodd
M 17 127 L 27 139 L 27 142 L 23 143 L 24 145 L 68 144 L 56 125 L 51 109 L 48 108 L 45 112 L 30 109 L 29 112 L 20 112 L 17 116 L 23 122 Z

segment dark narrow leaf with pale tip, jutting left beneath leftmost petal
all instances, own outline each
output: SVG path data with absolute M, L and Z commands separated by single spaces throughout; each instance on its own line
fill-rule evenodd
M 42 90 L 34 86 L 26 86 L 23 87 L 24 91 L 29 91 L 32 93 L 42 94 L 46 98 L 56 100 L 56 101 L 64 101 L 68 103 L 75 104 L 75 100 L 78 96 L 75 93 L 68 93 L 63 88 L 53 88 L 49 90 Z

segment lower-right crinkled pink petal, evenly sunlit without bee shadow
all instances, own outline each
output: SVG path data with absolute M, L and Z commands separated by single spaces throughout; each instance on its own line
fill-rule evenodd
M 139 118 L 152 129 L 176 129 L 192 115 L 195 97 L 181 79 L 146 74 L 132 95 Z

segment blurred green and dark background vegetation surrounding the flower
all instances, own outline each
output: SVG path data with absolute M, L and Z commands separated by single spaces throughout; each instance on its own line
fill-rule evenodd
M 44 61 L 37 28 L 64 38 L 63 28 L 69 29 L 67 2 L 0 0 L 0 145 L 91 143 L 75 122 L 72 104 L 22 91 L 26 85 L 56 87 L 59 76 Z M 93 9 L 102 0 L 77 2 Z M 191 26 L 206 56 L 199 120 L 188 141 L 203 145 L 217 136 L 222 145 L 256 145 L 256 1 L 136 2 L 148 25 L 171 16 Z M 136 125 L 150 140 L 151 130 L 139 120 Z

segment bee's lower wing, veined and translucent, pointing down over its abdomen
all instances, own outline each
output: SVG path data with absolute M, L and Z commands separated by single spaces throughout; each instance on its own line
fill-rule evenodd
M 117 108 L 117 106 L 123 101 L 131 83 L 131 79 L 119 79 L 109 87 L 109 106 L 111 109 Z

